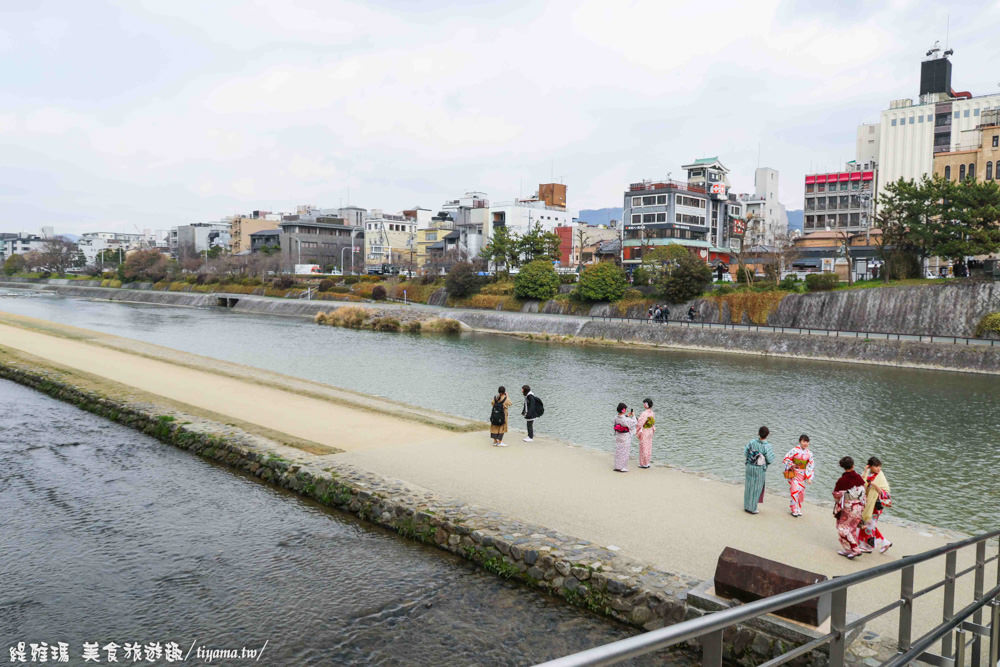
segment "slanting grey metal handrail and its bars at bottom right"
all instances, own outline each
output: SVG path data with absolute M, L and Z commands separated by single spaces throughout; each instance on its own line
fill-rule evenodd
M 816 584 L 811 584 L 809 586 L 804 586 L 802 588 L 797 588 L 786 593 L 779 593 L 778 595 L 773 595 L 771 597 L 762 598 L 754 602 L 739 605 L 736 607 L 730 607 L 721 611 L 717 611 L 705 616 L 698 618 L 693 618 L 688 621 L 683 621 L 681 623 L 676 623 L 674 625 L 669 625 L 657 630 L 652 630 L 634 637 L 629 637 L 627 639 L 622 639 L 620 641 L 612 642 L 610 644 L 605 644 L 603 646 L 598 646 L 586 651 L 581 651 L 573 655 L 564 656 L 562 658 L 556 658 L 555 660 L 550 660 L 548 662 L 542 663 L 542 667 L 578 667 L 582 665 L 610 665 L 617 663 L 621 660 L 636 657 L 639 655 L 644 655 L 646 653 L 651 653 L 660 649 L 668 648 L 675 644 L 679 644 L 684 641 L 691 639 L 702 638 L 704 643 L 704 664 L 718 665 L 721 664 L 722 659 L 722 633 L 723 630 L 731 626 L 737 625 L 739 623 L 744 623 L 746 621 L 752 620 L 759 616 L 769 614 L 774 611 L 790 607 L 794 604 L 800 602 L 805 602 L 807 600 L 812 600 L 818 598 L 827 593 L 832 594 L 832 604 L 831 604 L 831 632 L 825 637 L 820 637 L 816 640 L 809 642 L 810 645 L 815 644 L 812 648 L 818 648 L 820 645 L 830 642 L 837 644 L 838 655 L 833 655 L 831 650 L 831 664 L 842 664 L 843 663 L 843 650 L 844 650 L 844 639 L 848 630 L 853 629 L 858 625 L 858 621 L 855 621 L 848 625 L 846 623 L 846 606 L 847 606 L 847 589 L 856 584 L 864 583 L 872 579 L 876 579 L 887 574 L 892 574 L 894 572 L 903 572 L 903 594 L 901 595 L 901 603 L 893 603 L 883 608 L 882 613 L 888 613 L 898 607 L 902 607 L 904 610 L 912 610 L 912 603 L 918 595 L 913 595 L 912 585 L 913 585 L 913 567 L 920 563 L 938 558 L 940 556 L 945 556 L 951 554 L 948 558 L 949 569 L 946 575 L 946 585 L 954 590 L 955 579 L 957 578 L 954 571 L 954 555 L 958 550 L 963 549 L 967 546 L 976 544 L 981 545 L 977 548 L 977 576 L 979 575 L 979 570 L 985 568 L 985 565 L 994 560 L 1000 560 L 1000 554 L 986 560 L 981 558 L 980 554 L 985 548 L 987 540 L 995 537 L 1000 537 L 1000 530 L 994 530 L 989 533 L 983 533 L 981 535 L 975 535 L 973 537 L 968 537 L 958 542 L 951 542 L 949 544 L 942 545 L 940 547 L 925 551 L 921 554 L 916 554 L 913 556 L 904 556 L 898 561 L 892 563 L 883 563 L 882 565 L 877 565 L 873 568 L 867 570 L 862 570 L 860 572 L 854 572 L 852 574 L 847 574 L 841 577 L 836 577 L 834 579 L 828 579 L 826 581 L 821 581 Z M 1000 563 L 998 563 L 998 578 L 1000 578 Z M 909 581 L 910 593 L 907 595 L 906 586 L 907 579 Z M 978 581 L 978 579 L 977 579 Z M 1000 592 L 1000 584 L 997 588 L 989 591 L 984 598 L 986 601 L 991 600 L 996 597 L 998 592 Z M 959 614 L 950 614 L 949 610 L 946 609 L 947 623 L 950 624 L 955 618 L 959 618 L 959 622 L 967 618 L 968 615 L 977 612 L 984 606 L 983 604 L 972 608 L 974 605 L 970 605 L 966 609 L 963 609 Z M 968 614 L 964 617 L 960 617 L 967 610 Z M 902 616 L 902 612 L 901 612 Z M 869 614 L 864 619 L 861 620 L 871 620 L 872 615 Z M 909 616 L 908 616 L 909 618 Z M 909 621 L 907 621 L 909 622 Z M 902 626 L 903 620 L 901 618 L 900 624 Z M 941 631 L 941 635 L 947 634 L 950 628 L 955 627 L 954 625 L 949 626 L 949 628 L 941 630 L 941 626 L 935 628 L 932 632 Z M 994 629 L 995 630 L 995 629 Z M 708 637 L 706 637 L 706 635 Z M 900 637 L 903 637 L 902 627 Z M 925 643 L 924 639 L 919 640 L 917 644 L 911 645 L 909 643 L 909 628 L 906 628 L 906 639 L 901 641 L 900 651 L 908 652 L 915 646 L 923 646 Z M 927 646 L 933 644 L 933 641 Z M 768 664 L 781 664 L 787 660 L 791 660 L 794 657 L 798 657 L 802 653 L 800 652 L 803 647 L 798 649 L 792 649 L 792 651 L 780 656 L 783 659 L 775 659 L 770 661 Z M 833 648 L 833 647 L 831 647 Z M 921 649 L 923 650 L 923 649 Z M 790 655 L 794 654 L 794 655 Z M 837 659 L 839 658 L 839 659 Z

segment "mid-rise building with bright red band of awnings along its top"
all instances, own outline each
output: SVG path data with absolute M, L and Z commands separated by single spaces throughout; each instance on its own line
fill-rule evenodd
M 843 171 L 807 174 L 802 230 L 858 232 L 872 225 L 872 195 L 878 182 L 874 162 L 848 162 Z

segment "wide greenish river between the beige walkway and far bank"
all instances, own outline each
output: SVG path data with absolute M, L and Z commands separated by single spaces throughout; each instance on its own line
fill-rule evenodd
M 640 407 L 648 396 L 657 412 L 654 463 L 739 481 L 743 445 L 766 424 L 779 456 L 800 433 L 812 438 L 817 471 L 807 497 L 830 497 L 840 457 L 863 464 L 876 455 L 892 485 L 892 515 L 964 531 L 994 528 L 1000 515 L 995 376 L 486 334 L 373 333 L 223 309 L 8 294 L 0 310 L 484 421 L 497 385 L 516 393 L 530 384 L 545 401 L 537 431 L 609 456 L 615 405 Z M 512 412 L 519 410 L 516 403 Z M 519 421 L 512 419 L 514 426 Z M 777 471 L 771 476 L 772 488 L 781 488 Z

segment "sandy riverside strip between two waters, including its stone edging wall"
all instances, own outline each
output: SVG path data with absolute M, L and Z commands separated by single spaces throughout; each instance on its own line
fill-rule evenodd
M 769 497 L 751 517 L 740 487 L 701 475 L 615 475 L 605 455 L 545 438 L 496 449 L 476 422 L 30 318 L 0 317 L 0 352 L 5 377 L 639 627 L 699 613 L 687 591 L 726 545 L 836 575 L 949 539 L 890 525 L 889 555 L 849 562 L 834 553 L 828 508 L 794 520 Z M 898 580 L 876 582 L 850 608 L 897 592 Z M 928 599 L 916 611 L 926 627 L 940 607 Z M 872 630 L 892 635 L 888 619 Z M 759 661 L 775 632 L 731 647 Z M 858 658 L 874 650 L 855 648 Z

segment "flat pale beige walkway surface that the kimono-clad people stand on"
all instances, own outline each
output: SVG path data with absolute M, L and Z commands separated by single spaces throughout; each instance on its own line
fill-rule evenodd
M 321 446 L 312 451 L 340 451 L 303 454 L 306 457 L 338 457 L 361 469 L 613 545 L 661 569 L 702 579 L 712 577 L 725 546 L 836 576 L 954 539 L 945 531 L 894 525 L 890 519 L 883 522 L 883 532 L 894 543 L 891 551 L 848 561 L 836 554 L 829 507 L 807 504 L 804 516 L 796 519 L 789 515 L 784 498 L 772 494 L 759 515 L 749 515 L 742 509 L 741 486 L 665 465 L 640 470 L 633 459 L 629 473 L 616 473 L 610 454 L 547 437 L 526 444 L 516 432 L 508 434 L 509 447 L 496 448 L 485 424 L 442 419 L 431 411 L 319 383 L 0 313 L 0 352 L 4 348 L 103 378 L 113 383 L 111 387 L 124 385 Z M 483 397 L 484 414 L 489 401 L 489 396 Z M 595 415 L 595 419 L 609 423 L 610 442 L 610 416 Z M 669 415 L 660 419 L 669 420 Z M 481 430 L 455 430 L 475 428 Z M 545 432 L 544 419 L 538 430 Z M 742 445 L 734 442 L 731 451 L 715 450 L 706 456 L 727 456 L 740 467 Z M 785 488 L 776 468 L 768 484 L 775 490 Z M 809 498 L 829 499 L 830 489 L 810 488 Z M 963 553 L 959 569 L 971 563 L 971 552 Z M 943 571 L 943 559 L 918 567 L 917 588 Z M 996 580 L 994 565 L 987 581 Z M 956 608 L 971 599 L 971 585 L 971 575 L 960 580 Z M 863 591 L 852 591 L 849 609 L 858 614 L 871 611 L 894 600 L 898 592 L 899 576 L 883 577 Z M 915 632 L 939 622 L 940 593 L 939 589 L 916 604 Z M 869 627 L 894 637 L 896 618 L 893 613 Z

